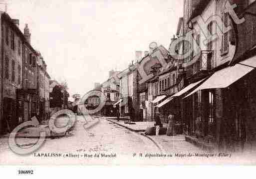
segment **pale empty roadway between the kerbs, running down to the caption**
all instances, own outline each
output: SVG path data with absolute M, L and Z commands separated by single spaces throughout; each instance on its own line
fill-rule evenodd
M 45 143 L 36 153 L 62 153 L 62 154 L 95 154 L 115 153 L 118 158 L 94 160 L 91 159 L 60 159 L 60 158 L 36 158 L 34 154 L 29 156 L 18 156 L 8 149 L 7 138 L 1 138 L 0 163 L 2 164 L 109 164 L 122 160 L 127 164 L 125 158 L 132 158 L 133 153 L 156 153 L 160 152 L 149 139 L 131 132 L 125 128 L 117 126 L 109 121 L 100 119 L 94 127 L 86 130 L 84 128 L 83 117 L 78 117 L 77 123 L 67 137 L 59 139 L 46 139 Z M 90 123 L 90 121 L 89 121 Z M 17 143 L 22 147 L 29 147 L 29 144 L 35 143 L 36 139 L 17 138 Z M 28 145 L 27 145 L 28 144 Z M 63 160 L 64 163 L 63 163 Z M 118 164 L 120 164 L 118 162 Z M 143 161 L 141 161 L 143 162 Z

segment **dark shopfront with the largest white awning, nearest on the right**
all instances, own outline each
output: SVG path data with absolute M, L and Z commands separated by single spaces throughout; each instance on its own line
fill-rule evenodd
M 229 151 L 256 139 L 256 56 L 216 71 L 183 99 L 190 135 Z

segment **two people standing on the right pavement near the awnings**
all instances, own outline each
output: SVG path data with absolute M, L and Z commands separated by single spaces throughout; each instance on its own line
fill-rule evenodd
M 166 132 L 167 136 L 173 136 L 174 135 L 174 124 L 175 124 L 174 117 L 175 116 L 172 115 L 171 113 L 168 116 L 169 122 L 168 122 L 167 132 Z M 156 136 L 159 136 L 160 126 L 162 125 L 161 120 L 160 120 L 160 113 L 159 112 L 156 113 L 155 122 L 156 122 Z

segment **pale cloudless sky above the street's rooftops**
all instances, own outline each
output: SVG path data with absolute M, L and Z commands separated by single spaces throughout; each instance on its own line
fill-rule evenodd
M 150 42 L 167 49 L 183 16 L 183 0 L 0 0 L 25 23 L 52 79 L 83 96 L 110 70 L 122 71 Z M 0 5 L 4 10 L 4 5 Z

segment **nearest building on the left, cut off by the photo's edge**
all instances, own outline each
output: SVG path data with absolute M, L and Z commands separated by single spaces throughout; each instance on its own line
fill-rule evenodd
M 16 105 L 23 105 L 18 92 L 23 87 L 23 46 L 30 45 L 19 30 L 19 20 L 11 19 L 7 13 L 0 12 L 1 55 L 0 55 L 0 133 L 9 132 L 23 120 Z M 19 108 L 18 108 L 19 109 Z M 17 118 L 17 116 L 21 118 Z

